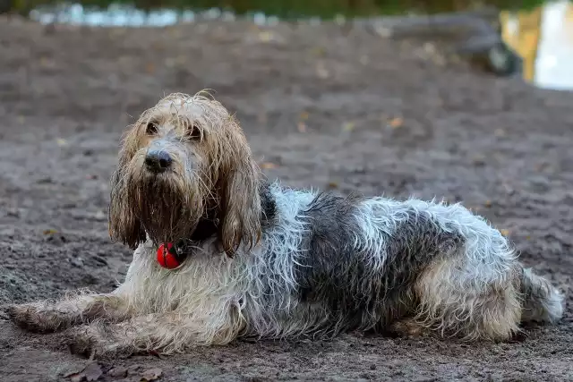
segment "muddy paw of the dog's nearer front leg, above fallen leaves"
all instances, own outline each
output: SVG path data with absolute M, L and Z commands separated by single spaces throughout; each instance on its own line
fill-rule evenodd
M 75 327 L 66 333 L 65 343 L 74 354 L 90 359 L 109 360 L 124 358 L 133 354 L 133 347 L 119 341 L 106 327 L 91 324 Z

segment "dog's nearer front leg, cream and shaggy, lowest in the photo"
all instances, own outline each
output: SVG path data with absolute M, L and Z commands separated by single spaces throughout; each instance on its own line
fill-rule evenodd
M 189 314 L 153 313 L 120 323 L 92 322 L 68 333 L 72 352 L 96 358 L 133 353 L 173 354 L 195 346 L 228 344 L 241 328 L 241 320 L 199 319 Z

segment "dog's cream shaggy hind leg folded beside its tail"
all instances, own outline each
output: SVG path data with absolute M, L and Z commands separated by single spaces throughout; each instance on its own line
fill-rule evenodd
M 486 284 L 467 278 L 463 269 L 456 260 L 442 260 L 423 272 L 415 287 L 419 322 L 441 335 L 508 340 L 521 319 L 518 267 Z

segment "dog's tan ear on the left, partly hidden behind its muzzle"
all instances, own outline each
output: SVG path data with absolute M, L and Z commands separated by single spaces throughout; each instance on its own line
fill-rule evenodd
M 145 230 L 133 209 L 127 205 L 128 189 L 124 174 L 128 159 L 122 150 L 119 163 L 111 177 L 111 195 L 107 213 L 108 230 L 112 240 L 127 244 L 132 250 L 145 242 Z

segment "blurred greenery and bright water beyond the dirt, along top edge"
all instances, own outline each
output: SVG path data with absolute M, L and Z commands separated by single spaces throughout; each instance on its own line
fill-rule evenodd
M 481 16 L 499 22 L 496 29 L 501 38 L 523 59 L 519 72 L 526 81 L 544 88 L 573 88 L 573 71 L 569 70 L 573 65 L 573 6 L 568 0 L 0 0 L 3 13 L 43 23 L 92 26 L 167 26 L 201 18 L 234 20 L 236 16 L 258 24 L 301 19 L 342 23 L 349 18 L 475 10 L 489 10 Z

